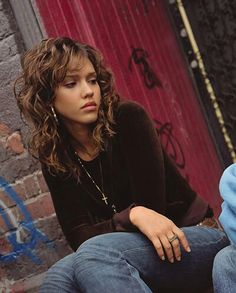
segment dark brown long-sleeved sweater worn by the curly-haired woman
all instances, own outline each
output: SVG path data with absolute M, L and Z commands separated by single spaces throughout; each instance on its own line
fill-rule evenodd
M 116 214 L 85 173 L 79 183 L 73 177 L 52 176 L 43 168 L 59 223 L 74 250 L 95 235 L 134 231 L 129 220 L 134 204 L 166 215 L 178 226 L 194 225 L 210 211 L 163 152 L 153 122 L 140 105 L 122 102 L 115 117 L 116 135 L 107 150 L 83 163 L 101 187 L 101 160 L 104 193 L 110 205 L 115 204 Z

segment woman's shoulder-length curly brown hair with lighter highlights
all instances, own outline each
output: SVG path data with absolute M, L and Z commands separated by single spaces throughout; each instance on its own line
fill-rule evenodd
M 21 114 L 32 128 L 29 151 L 52 174 L 80 173 L 66 143 L 69 134 L 61 123 L 58 125 L 51 109 L 55 89 L 65 79 L 74 57 L 90 60 L 101 89 L 98 119 L 92 129 L 96 148 L 103 150 L 108 138 L 115 134 L 113 110 L 119 96 L 101 53 L 70 38 L 42 40 L 22 57 L 22 73 L 15 82 L 14 92 Z

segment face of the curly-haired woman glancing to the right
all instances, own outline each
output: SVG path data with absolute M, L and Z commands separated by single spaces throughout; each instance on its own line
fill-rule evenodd
M 67 128 L 87 128 L 98 118 L 101 91 L 90 60 L 74 57 L 55 90 L 54 108 Z

